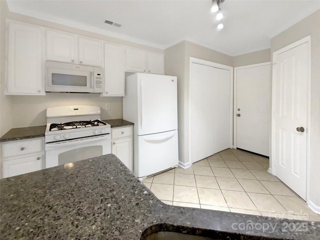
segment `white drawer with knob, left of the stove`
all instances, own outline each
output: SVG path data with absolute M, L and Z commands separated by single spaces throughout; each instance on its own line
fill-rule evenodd
M 2 157 L 25 155 L 42 151 L 42 138 L 2 143 Z

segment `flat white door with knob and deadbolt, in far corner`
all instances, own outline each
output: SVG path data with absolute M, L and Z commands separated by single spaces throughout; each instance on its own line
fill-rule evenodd
M 236 147 L 268 156 L 270 63 L 234 70 Z

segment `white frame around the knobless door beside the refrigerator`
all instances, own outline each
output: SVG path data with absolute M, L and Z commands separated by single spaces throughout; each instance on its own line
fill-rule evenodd
M 201 65 L 206 65 L 206 66 L 211 66 L 211 67 L 216 67 L 216 68 L 220 68 L 220 69 L 224 69 L 224 70 L 229 70 L 230 71 L 230 136 L 229 136 L 229 147 L 233 148 L 233 144 L 232 144 L 232 140 L 233 140 L 233 66 L 228 66 L 228 65 L 224 65 L 224 64 L 220 64 L 220 63 L 216 63 L 213 61 L 207 61 L 207 60 L 203 60 L 203 59 L 199 59 L 196 57 L 192 57 L 190 56 L 190 61 L 189 61 L 189 89 L 188 89 L 188 93 L 189 93 L 189 99 L 188 99 L 188 139 L 187 139 L 187 145 L 188 145 L 188 162 L 190 165 L 192 164 L 191 162 L 191 147 L 190 147 L 190 136 L 191 136 L 191 64 L 192 63 L 197 63 L 197 64 L 201 64 Z

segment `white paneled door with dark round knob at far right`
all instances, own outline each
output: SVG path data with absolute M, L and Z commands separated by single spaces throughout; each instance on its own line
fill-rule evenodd
M 275 174 L 305 199 L 308 43 L 279 52 L 273 58 Z

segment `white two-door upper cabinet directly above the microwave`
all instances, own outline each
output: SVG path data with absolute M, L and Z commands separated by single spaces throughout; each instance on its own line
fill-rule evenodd
M 103 44 L 97 39 L 47 29 L 46 60 L 103 66 Z

